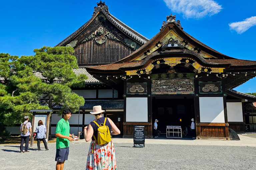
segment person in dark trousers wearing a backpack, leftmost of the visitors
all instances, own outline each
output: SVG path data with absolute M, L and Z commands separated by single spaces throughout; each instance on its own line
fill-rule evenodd
M 31 123 L 28 122 L 29 117 L 24 117 L 25 122 L 23 122 L 20 126 L 20 132 L 21 132 L 21 142 L 20 142 L 20 153 L 23 153 L 23 144 L 25 141 L 25 150 L 24 153 L 28 153 L 28 141 L 29 137 L 31 136 L 32 126 Z

